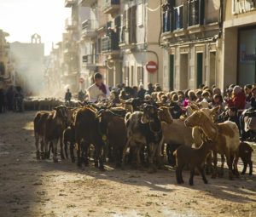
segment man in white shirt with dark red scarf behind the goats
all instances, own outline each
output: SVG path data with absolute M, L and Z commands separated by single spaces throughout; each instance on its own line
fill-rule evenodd
M 109 98 L 110 92 L 108 86 L 102 81 L 102 74 L 96 73 L 94 75 L 94 84 L 87 89 L 87 93 L 89 94 L 89 101 L 96 102 L 100 98 Z

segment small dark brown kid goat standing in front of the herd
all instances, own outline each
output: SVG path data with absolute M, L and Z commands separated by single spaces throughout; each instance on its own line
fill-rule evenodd
M 212 140 L 204 140 L 201 146 L 197 149 L 191 148 L 189 146 L 179 146 L 176 151 L 174 151 L 174 155 L 176 155 L 176 179 L 177 184 L 184 183 L 183 181 L 183 167 L 189 163 L 190 168 L 190 178 L 189 185 L 193 186 L 193 177 L 195 174 L 195 168 L 201 173 L 202 179 L 205 184 L 207 184 L 207 178 L 204 172 L 204 164 L 208 154 L 210 154 L 212 150 Z

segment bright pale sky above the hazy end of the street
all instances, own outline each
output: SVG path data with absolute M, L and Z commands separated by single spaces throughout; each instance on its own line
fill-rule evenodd
M 0 0 L 0 29 L 9 32 L 9 42 L 30 43 L 38 33 L 49 54 L 52 42 L 61 41 L 65 19 L 71 9 L 64 8 L 65 0 Z

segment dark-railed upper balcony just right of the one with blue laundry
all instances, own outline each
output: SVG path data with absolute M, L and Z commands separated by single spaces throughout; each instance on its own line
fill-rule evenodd
M 193 0 L 188 2 L 188 26 L 200 26 L 204 24 L 204 1 Z

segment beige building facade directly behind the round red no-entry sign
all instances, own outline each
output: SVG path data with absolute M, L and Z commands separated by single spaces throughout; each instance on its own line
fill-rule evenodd
M 158 1 L 121 1 L 119 48 L 122 51 L 122 81 L 126 85 L 163 84 L 162 50 L 159 46 L 160 4 Z M 157 67 L 146 69 L 148 62 Z M 165 88 L 165 87 L 164 87 Z

